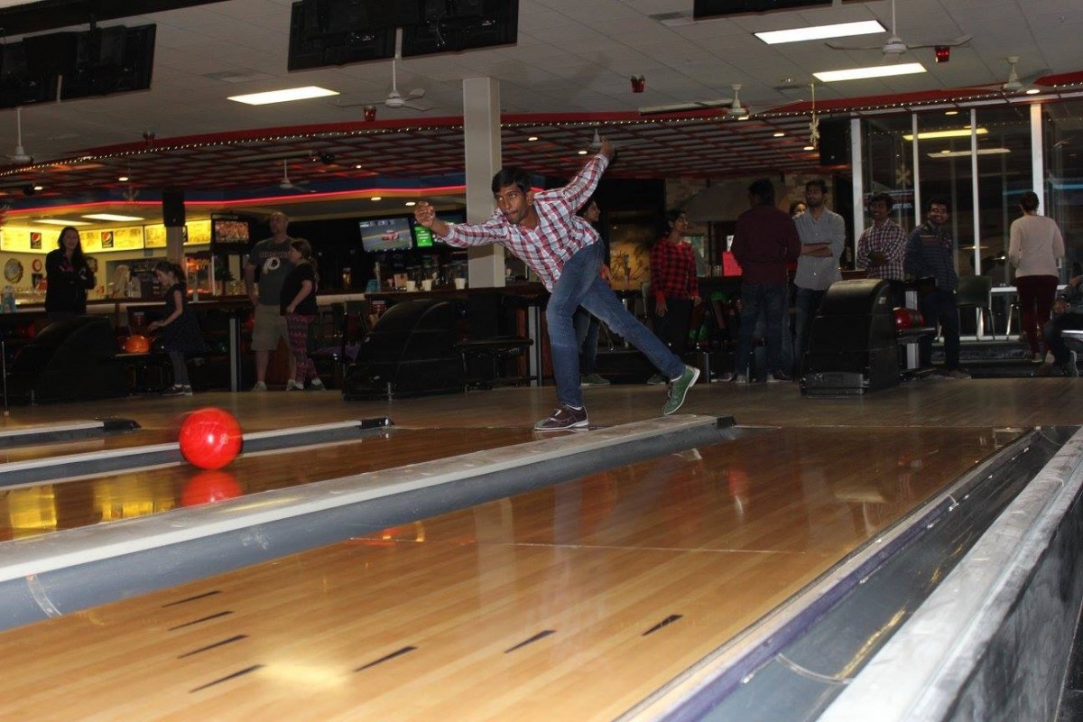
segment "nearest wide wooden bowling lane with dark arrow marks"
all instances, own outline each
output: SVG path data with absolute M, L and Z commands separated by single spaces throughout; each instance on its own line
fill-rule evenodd
M 771 430 L 419 520 L 0 633 L 0 704 L 613 719 L 1013 436 Z

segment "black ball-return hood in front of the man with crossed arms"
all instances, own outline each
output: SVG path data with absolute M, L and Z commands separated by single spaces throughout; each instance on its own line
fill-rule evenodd
M 801 393 L 853 396 L 898 384 L 890 284 L 878 278 L 835 281 L 809 329 Z

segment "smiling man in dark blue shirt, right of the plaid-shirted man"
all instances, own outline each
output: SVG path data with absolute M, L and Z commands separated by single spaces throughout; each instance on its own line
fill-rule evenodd
M 944 375 L 953 379 L 969 379 L 970 375 L 958 365 L 958 306 L 955 289 L 955 241 L 948 228 L 948 200 L 934 196 L 925 204 L 925 223 L 906 236 L 906 257 L 903 267 L 916 279 L 935 279 L 934 288 L 918 291 L 917 309 L 925 317 L 925 325 L 940 324 L 944 338 Z M 932 365 L 932 338 L 923 336 L 917 343 L 923 368 Z

